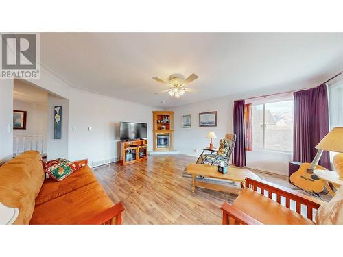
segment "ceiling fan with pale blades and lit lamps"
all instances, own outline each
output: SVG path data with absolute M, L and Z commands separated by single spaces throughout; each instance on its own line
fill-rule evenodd
M 169 86 L 168 89 L 162 90 L 158 93 L 154 93 L 154 95 L 168 92 L 168 94 L 171 97 L 175 97 L 176 99 L 178 99 L 183 94 L 185 94 L 185 92 L 189 92 L 189 93 L 198 92 L 198 90 L 196 89 L 185 87 L 187 84 L 191 83 L 193 80 L 198 79 L 198 76 L 196 74 L 191 74 L 186 79 L 184 79 L 184 77 L 181 74 L 173 74 L 169 76 L 168 82 L 165 82 L 163 79 L 160 79 L 159 77 L 153 77 L 152 79 L 156 80 L 156 82 L 160 82 L 162 84 L 165 84 L 166 86 Z

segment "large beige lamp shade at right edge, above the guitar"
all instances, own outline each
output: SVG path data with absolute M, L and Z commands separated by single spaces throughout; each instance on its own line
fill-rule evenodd
M 327 136 L 316 145 L 316 149 L 343 152 L 343 127 L 334 127 Z

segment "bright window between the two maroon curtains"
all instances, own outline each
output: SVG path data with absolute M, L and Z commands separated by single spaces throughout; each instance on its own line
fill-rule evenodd
M 293 100 L 252 103 L 252 149 L 293 151 Z

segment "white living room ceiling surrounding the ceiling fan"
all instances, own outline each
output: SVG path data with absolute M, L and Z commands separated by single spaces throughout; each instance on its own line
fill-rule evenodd
M 343 33 L 42 33 L 40 61 L 76 88 L 170 108 L 317 86 L 343 69 Z M 199 93 L 154 95 L 172 73 L 196 73 Z

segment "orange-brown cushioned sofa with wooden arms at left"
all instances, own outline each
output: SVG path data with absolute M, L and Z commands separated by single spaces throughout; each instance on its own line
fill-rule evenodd
M 58 182 L 48 178 L 38 151 L 0 167 L 0 202 L 19 208 L 14 224 L 121 224 L 123 205 L 106 195 L 86 165 Z

